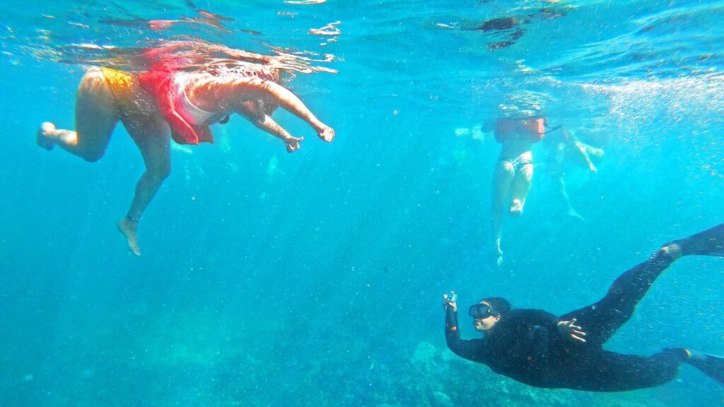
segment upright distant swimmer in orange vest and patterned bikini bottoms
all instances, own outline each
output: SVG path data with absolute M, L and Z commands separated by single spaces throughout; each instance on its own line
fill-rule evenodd
M 495 140 L 502 146 L 493 169 L 491 222 L 496 263 L 502 264 L 500 239 L 503 214 L 520 217 L 533 179 L 534 143 L 546 132 L 544 117 L 500 118 L 484 130 L 494 130 Z

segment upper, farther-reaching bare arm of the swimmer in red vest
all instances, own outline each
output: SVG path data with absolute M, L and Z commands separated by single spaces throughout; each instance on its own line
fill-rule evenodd
M 319 138 L 327 141 L 327 143 L 332 143 L 334 139 L 334 130 L 332 127 L 320 122 L 300 98 L 287 88 L 270 80 L 260 80 L 256 78 L 237 83 L 237 86 L 239 86 L 238 90 L 240 93 L 253 92 L 261 97 L 270 98 L 275 104 L 278 104 L 311 125 L 311 127 L 316 130 Z

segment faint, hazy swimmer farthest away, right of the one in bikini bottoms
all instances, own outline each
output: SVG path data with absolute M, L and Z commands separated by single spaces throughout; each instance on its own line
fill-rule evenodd
M 603 156 L 603 149 L 582 143 L 575 134 L 568 130 L 550 133 L 544 140 L 544 145 L 548 148 L 544 169 L 555 182 L 558 196 L 565 204 L 566 213 L 575 219 L 584 220 L 584 217 L 573 208 L 571 198 L 568 197 L 568 190 L 565 187 L 565 167 L 566 164 L 571 163 L 595 174 L 598 169 L 593 160 Z

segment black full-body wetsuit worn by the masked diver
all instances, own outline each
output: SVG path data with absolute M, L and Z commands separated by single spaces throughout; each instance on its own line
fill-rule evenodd
M 482 339 L 461 340 L 458 316 L 447 307 L 447 346 L 458 356 L 536 387 L 609 392 L 661 385 L 675 377 L 686 358 L 683 348 L 644 357 L 604 351 L 603 344 L 631 318 L 636 304 L 672 262 L 658 251 L 620 275 L 601 301 L 563 316 L 513 309 Z M 557 332 L 558 321 L 573 318 L 586 332 L 586 343 Z

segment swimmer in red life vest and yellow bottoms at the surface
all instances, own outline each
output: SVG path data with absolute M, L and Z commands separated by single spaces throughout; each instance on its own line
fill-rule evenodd
M 331 143 L 334 139 L 332 127 L 319 121 L 294 93 L 280 85 L 277 67 L 235 64 L 226 59 L 182 70 L 168 63 L 173 61 L 171 54 L 168 58 L 163 54 L 173 50 L 153 49 L 148 56 L 163 64 L 153 64 L 143 72 L 91 68 L 77 90 L 75 130 L 44 122 L 36 138 L 42 148 L 59 146 L 93 162 L 104 155 L 117 123 L 123 123 L 146 164 L 130 209 L 118 222 L 128 248 L 137 256 L 138 222 L 169 176 L 172 138 L 180 144 L 213 143 L 209 125 L 240 114 L 282 140 L 287 151 L 296 151 L 303 138 L 293 137 L 271 119 L 274 109 L 281 106 L 307 122 L 322 140 Z

